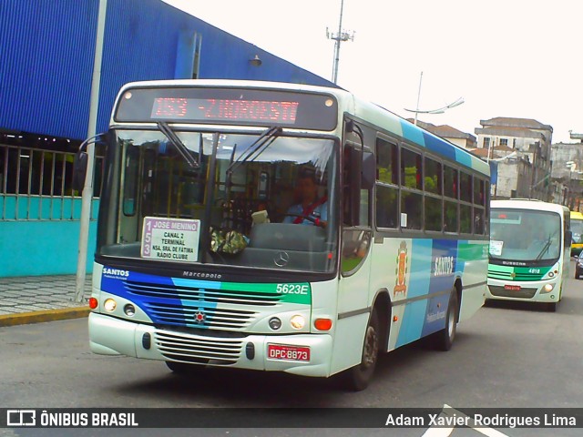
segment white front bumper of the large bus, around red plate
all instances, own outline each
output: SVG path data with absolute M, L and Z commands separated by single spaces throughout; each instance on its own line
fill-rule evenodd
M 332 337 L 329 334 L 222 337 L 162 330 L 154 326 L 89 314 L 91 351 L 159 361 L 204 363 L 257 371 L 284 371 L 303 376 L 330 376 Z M 310 361 L 273 360 L 268 343 L 310 348 Z M 251 353 L 252 351 L 252 353 Z

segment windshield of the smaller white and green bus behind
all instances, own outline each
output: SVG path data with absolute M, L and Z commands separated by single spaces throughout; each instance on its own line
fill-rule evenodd
M 557 213 L 492 208 L 490 262 L 550 261 L 560 256 L 561 219 Z

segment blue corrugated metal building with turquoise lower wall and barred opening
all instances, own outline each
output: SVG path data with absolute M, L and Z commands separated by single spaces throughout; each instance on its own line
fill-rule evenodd
M 72 158 L 87 137 L 98 7 L 0 2 L 0 277 L 76 271 Z M 98 132 L 123 84 L 197 77 L 334 86 L 160 0 L 107 0 Z

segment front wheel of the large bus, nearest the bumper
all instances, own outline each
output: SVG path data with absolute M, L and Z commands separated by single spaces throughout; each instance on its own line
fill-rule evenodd
M 363 355 L 360 364 L 343 373 L 343 385 L 351 391 L 363 391 L 373 381 L 374 369 L 379 358 L 380 324 L 373 310 L 364 333 Z

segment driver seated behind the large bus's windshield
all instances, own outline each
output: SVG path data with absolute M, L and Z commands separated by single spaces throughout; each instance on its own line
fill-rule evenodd
M 328 220 L 327 198 L 318 197 L 318 184 L 313 172 L 303 171 L 296 182 L 298 203 L 292 205 L 283 223 L 315 225 L 324 228 Z

